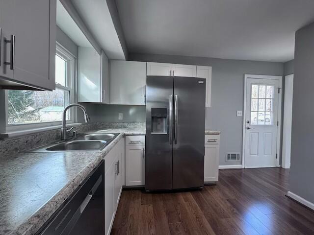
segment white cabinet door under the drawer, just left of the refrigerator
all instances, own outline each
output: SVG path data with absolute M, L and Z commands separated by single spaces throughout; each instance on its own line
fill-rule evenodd
M 126 186 L 145 185 L 145 145 L 126 147 Z

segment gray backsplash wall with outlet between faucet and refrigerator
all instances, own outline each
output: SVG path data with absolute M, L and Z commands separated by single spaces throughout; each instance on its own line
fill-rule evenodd
M 145 106 L 142 105 L 106 105 L 83 103 L 91 121 L 105 122 L 145 122 Z M 123 114 L 123 120 L 118 120 L 119 113 Z M 78 121 L 84 122 L 83 114 L 78 111 Z

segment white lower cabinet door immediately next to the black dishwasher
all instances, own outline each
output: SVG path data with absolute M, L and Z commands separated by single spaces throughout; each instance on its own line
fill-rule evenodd
M 114 164 L 105 173 L 105 235 L 110 235 L 114 213 Z

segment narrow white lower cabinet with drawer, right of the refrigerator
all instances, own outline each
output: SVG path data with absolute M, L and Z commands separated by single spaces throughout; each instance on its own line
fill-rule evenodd
M 218 181 L 219 135 L 205 136 L 204 183 Z

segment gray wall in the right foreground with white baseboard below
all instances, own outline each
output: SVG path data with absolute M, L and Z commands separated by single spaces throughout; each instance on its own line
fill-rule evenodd
M 295 36 L 290 191 L 314 203 L 314 24 Z

